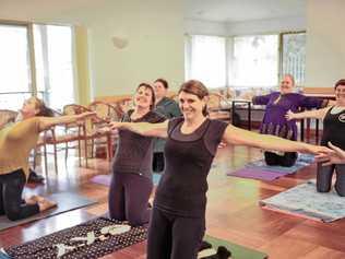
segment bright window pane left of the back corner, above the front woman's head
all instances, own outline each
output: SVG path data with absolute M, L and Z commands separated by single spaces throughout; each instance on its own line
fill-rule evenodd
M 226 38 L 187 37 L 186 78 L 200 80 L 211 89 L 226 86 Z

